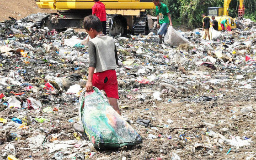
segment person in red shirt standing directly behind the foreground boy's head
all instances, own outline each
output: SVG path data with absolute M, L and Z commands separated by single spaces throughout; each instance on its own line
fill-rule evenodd
M 92 6 L 92 15 L 96 15 L 101 20 L 101 25 L 103 28 L 103 34 L 106 35 L 106 28 L 107 28 L 107 14 L 105 5 L 100 2 L 100 0 L 93 0 L 94 5 Z

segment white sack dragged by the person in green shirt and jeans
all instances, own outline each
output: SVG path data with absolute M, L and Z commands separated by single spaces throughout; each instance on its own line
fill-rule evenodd
M 173 29 L 170 25 L 168 27 L 167 33 L 165 35 L 165 42 L 169 43 L 171 46 L 179 46 L 182 44 L 192 44 L 185 37 L 183 37 L 179 32 Z

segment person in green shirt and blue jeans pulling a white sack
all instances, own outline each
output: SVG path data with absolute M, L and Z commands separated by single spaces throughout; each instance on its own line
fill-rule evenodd
M 160 2 L 160 0 L 153 0 L 155 7 L 155 13 L 157 15 L 157 34 L 159 35 L 159 43 L 163 42 L 163 35 L 167 33 L 169 25 L 172 25 L 171 15 L 168 7 Z

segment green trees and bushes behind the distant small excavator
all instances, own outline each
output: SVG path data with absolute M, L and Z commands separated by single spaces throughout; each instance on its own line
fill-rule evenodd
M 162 0 L 170 10 L 172 19 L 181 22 L 181 25 L 196 28 L 202 26 L 202 14 L 207 14 L 208 7 L 221 7 L 224 0 Z M 256 0 L 245 0 L 245 18 L 256 20 Z M 238 16 L 239 0 L 231 0 L 229 16 Z M 150 11 L 154 13 L 154 11 Z M 148 11 L 148 13 L 150 14 Z

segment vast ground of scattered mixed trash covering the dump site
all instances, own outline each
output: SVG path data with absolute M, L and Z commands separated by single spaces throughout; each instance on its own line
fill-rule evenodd
M 256 159 L 256 24 L 192 44 L 115 37 L 118 104 L 143 143 L 96 150 L 73 126 L 88 75 L 85 32 L 41 28 L 47 14 L 0 23 L 0 160 Z M 135 158 L 136 157 L 136 158 Z

